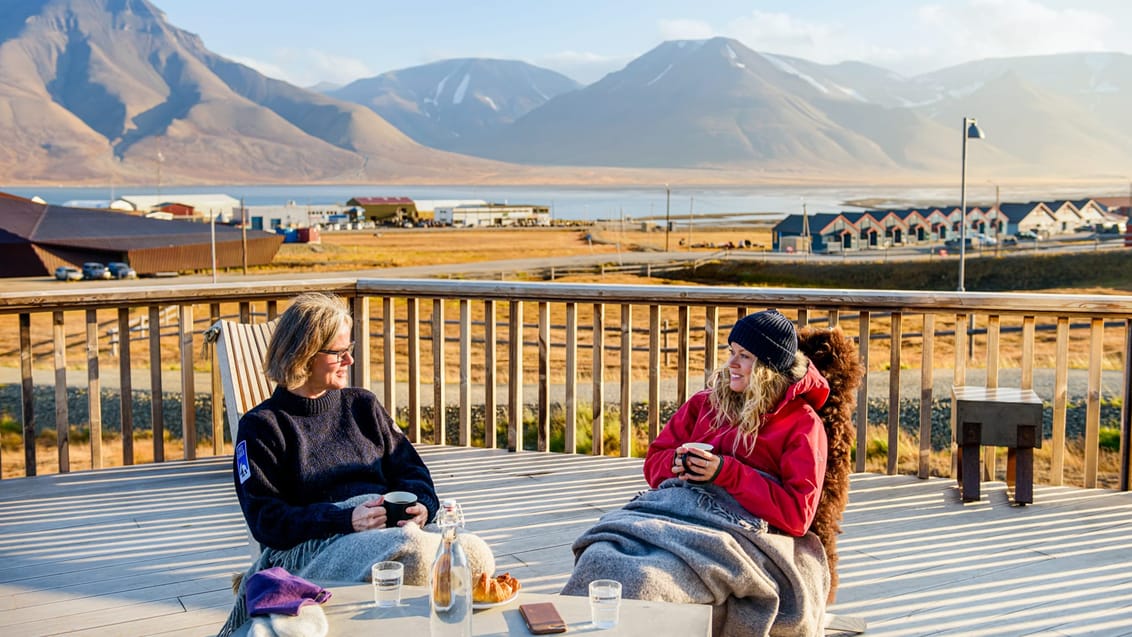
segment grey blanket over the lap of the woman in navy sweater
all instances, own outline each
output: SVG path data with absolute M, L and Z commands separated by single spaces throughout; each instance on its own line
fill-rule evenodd
M 376 496 L 357 496 L 338 502 L 337 506 L 353 508 L 374 498 Z M 495 573 L 495 557 L 483 540 L 471 533 L 461 533 L 460 543 L 468 553 L 473 576 L 480 573 L 488 575 Z M 369 582 L 370 566 L 374 562 L 393 560 L 404 565 L 406 585 L 423 586 L 428 584 L 429 569 L 439 548 L 440 533 L 435 525 L 421 528 L 415 524 L 406 524 L 393 528 L 334 535 L 323 540 L 308 540 L 285 551 L 264 549 L 259 553 L 259 559 L 245 571 L 235 591 L 235 602 L 232 604 L 228 621 L 216 635 L 229 637 L 248 621 L 243 583 L 254 573 L 277 566 L 292 575 L 316 583 Z M 332 587 L 331 593 L 333 592 Z

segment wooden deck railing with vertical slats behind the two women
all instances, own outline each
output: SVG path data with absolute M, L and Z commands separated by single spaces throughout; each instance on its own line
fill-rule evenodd
M 898 471 L 902 450 L 917 455 L 917 474 L 932 472 L 933 421 L 938 425 L 938 403 L 947 398 L 938 385 L 968 384 L 969 372 L 977 370 L 980 384 L 996 387 L 1010 376 L 1012 384 L 1039 389 L 1047 401 L 1052 431 L 1046 440 L 1053 446 L 1048 481 L 1055 484 L 1074 456 L 1082 466 L 1082 485 L 1098 485 L 1101 406 L 1106 398 L 1118 401 L 1118 482 L 1129 487 L 1130 296 L 354 278 L 0 294 L 0 315 L 17 326 L 9 328 L 18 334 L 7 352 L 10 362 L 0 353 L 0 364 L 12 367 L 18 354 L 24 415 L 16 418 L 26 474 L 37 471 L 35 432 L 44 429 L 34 416 L 36 401 L 46 399 L 34 390 L 35 369 L 41 376 L 46 369 L 54 372 L 48 385 L 54 388 L 57 463 L 50 468 L 70 471 L 68 431 L 75 419 L 68 413 L 67 370 L 75 350 L 85 361 L 77 367 L 86 372 L 89 466 L 98 468 L 105 460 L 101 401 L 106 365 L 118 368 L 119 396 L 132 396 L 136 368 L 148 371 L 143 385 L 152 397 L 155 462 L 165 459 L 163 399 L 180 399 L 179 422 L 194 423 L 180 428 L 182 456 L 192 458 L 198 453 L 197 396 L 220 395 L 204 329 L 222 316 L 271 319 L 289 298 L 311 290 L 350 301 L 355 341 L 367 344 L 358 350 L 354 382 L 374 388 L 414 441 L 640 455 L 668 414 L 723 362 L 734 320 L 773 307 L 799 325 L 837 325 L 863 344 L 869 371 L 858 399 L 858 449 L 866 446 L 871 405 L 875 412 L 877 401 L 886 398 L 883 415 L 874 413 L 871 424 L 887 430 L 889 473 Z M 122 338 L 110 356 L 108 327 L 117 324 L 117 334 L 131 334 L 138 317 L 158 325 L 168 307 L 178 309 L 175 332 L 169 327 L 163 336 L 149 329 L 142 339 Z M 909 372 L 914 381 L 907 379 Z M 177 375 L 178 388 L 165 386 L 168 373 Z M 886 396 L 865 389 L 878 378 Z M 203 382 L 205 391 L 198 387 Z M 911 450 L 901 449 L 907 444 L 898 436 L 901 405 L 909 402 L 919 418 Z M 121 432 L 125 464 L 136 460 L 132 403 L 120 401 L 113 422 Z M 1083 406 L 1077 408 L 1077 403 Z M 1083 412 L 1079 436 L 1067 427 L 1067 414 L 1077 412 Z M 220 410 L 212 410 L 203 428 L 201 438 L 212 441 L 205 453 L 228 450 L 224 429 Z M 994 471 L 994 462 L 988 453 L 987 472 Z M 865 454 L 857 454 L 858 471 L 864 463 Z

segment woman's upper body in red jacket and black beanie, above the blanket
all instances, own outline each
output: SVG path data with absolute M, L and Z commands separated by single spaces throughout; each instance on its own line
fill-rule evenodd
M 801 536 L 825 476 L 827 441 L 816 410 L 830 386 L 798 352 L 794 324 L 774 310 L 739 319 L 728 343 L 727 365 L 649 446 L 645 480 L 654 489 L 671 477 L 714 483 L 771 527 Z M 712 451 L 686 442 L 707 442 Z

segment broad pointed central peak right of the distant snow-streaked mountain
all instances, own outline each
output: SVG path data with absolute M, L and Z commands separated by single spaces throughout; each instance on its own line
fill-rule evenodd
M 932 167 L 935 157 L 911 155 L 902 140 L 943 139 L 942 127 L 790 64 L 722 37 L 667 42 L 496 135 L 452 148 L 518 163 Z M 892 132 L 869 135 L 881 128 Z

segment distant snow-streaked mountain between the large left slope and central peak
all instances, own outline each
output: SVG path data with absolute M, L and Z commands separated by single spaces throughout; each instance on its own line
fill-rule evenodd
M 568 77 L 512 60 L 444 60 L 359 79 L 328 95 L 362 104 L 412 139 L 448 148 L 491 134 L 580 88 Z

